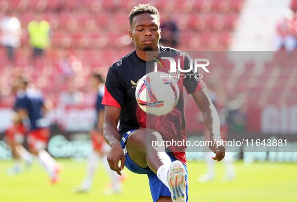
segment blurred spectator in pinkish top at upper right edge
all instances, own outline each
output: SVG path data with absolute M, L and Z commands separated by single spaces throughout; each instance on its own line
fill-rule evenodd
M 292 51 L 296 48 L 296 30 L 294 29 L 294 13 L 288 9 L 284 12 L 284 18 L 276 26 L 275 39 L 276 50 Z

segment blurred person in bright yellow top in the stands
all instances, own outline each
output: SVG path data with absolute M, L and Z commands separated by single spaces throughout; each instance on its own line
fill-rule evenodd
M 33 64 L 37 57 L 44 56 L 44 50 L 50 45 L 51 28 L 50 24 L 42 20 L 42 15 L 37 13 L 35 20 L 28 25 L 30 45 L 33 48 Z

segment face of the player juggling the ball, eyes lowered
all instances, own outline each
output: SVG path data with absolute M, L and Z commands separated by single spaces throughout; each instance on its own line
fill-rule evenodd
M 136 49 L 142 51 L 156 50 L 161 36 L 159 19 L 152 14 L 135 16 L 129 35 L 133 39 Z

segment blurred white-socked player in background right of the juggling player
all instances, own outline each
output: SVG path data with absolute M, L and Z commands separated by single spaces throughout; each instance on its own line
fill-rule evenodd
M 208 83 L 208 92 L 209 92 L 210 98 L 214 106 L 216 106 L 217 108 L 219 108 L 219 105 L 218 105 L 219 91 L 222 92 L 222 90 L 218 88 L 218 84 L 215 81 L 210 81 Z M 226 110 L 225 109 L 218 110 L 218 113 L 219 113 L 220 123 L 221 123 L 221 137 L 224 141 L 228 141 L 228 124 L 226 121 Z M 204 137 L 205 137 L 205 140 L 210 139 L 210 132 L 208 130 L 205 130 Z M 213 155 L 213 152 L 211 151 L 205 152 L 207 172 L 206 174 L 201 175 L 199 177 L 198 179 L 199 182 L 207 182 L 215 178 L 215 162 L 211 159 L 212 155 Z M 222 160 L 222 162 L 226 166 L 226 175 L 224 176 L 223 180 L 224 181 L 233 180 L 235 178 L 235 169 L 234 169 L 234 160 L 233 160 L 232 152 L 226 152 L 225 158 Z

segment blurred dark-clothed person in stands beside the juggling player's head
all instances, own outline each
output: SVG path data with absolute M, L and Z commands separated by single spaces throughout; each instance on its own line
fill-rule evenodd
M 160 43 L 163 46 L 175 48 L 178 44 L 178 28 L 171 14 L 165 14 L 164 22 L 161 23 L 160 28 L 162 31 Z

